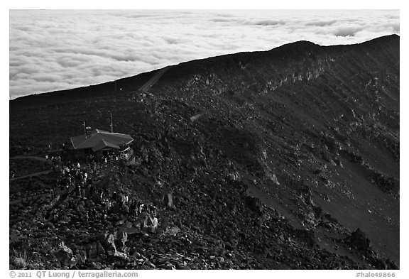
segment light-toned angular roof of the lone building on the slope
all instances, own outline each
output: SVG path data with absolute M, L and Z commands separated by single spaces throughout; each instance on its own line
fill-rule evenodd
M 109 133 L 95 129 L 90 136 L 74 136 L 70 138 L 74 149 L 92 148 L 92 151 L 99 151 L 102 148 L 119 149 L 124 144 L 131 143 L 133 138 L 124 133 Z

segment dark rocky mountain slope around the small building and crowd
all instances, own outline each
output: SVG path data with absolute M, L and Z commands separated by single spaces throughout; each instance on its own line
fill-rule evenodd
M 107 129 L 111 111 L 136 156 L 93 184 L 160 207 L 155 232 L 75 195 L 53 218 L 48 195 L 12 201 L 55 175 L 11 181 L 13 268 L 398 268 L 397 35 L 195 60 L 139 92 L 155 74 L 10 103 L 11 155 Z

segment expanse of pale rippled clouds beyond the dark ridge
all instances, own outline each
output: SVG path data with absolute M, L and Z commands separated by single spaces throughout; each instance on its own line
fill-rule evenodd
M 12 98 L 310 40 L 400 34 L 398 10 L 10 10 Z

